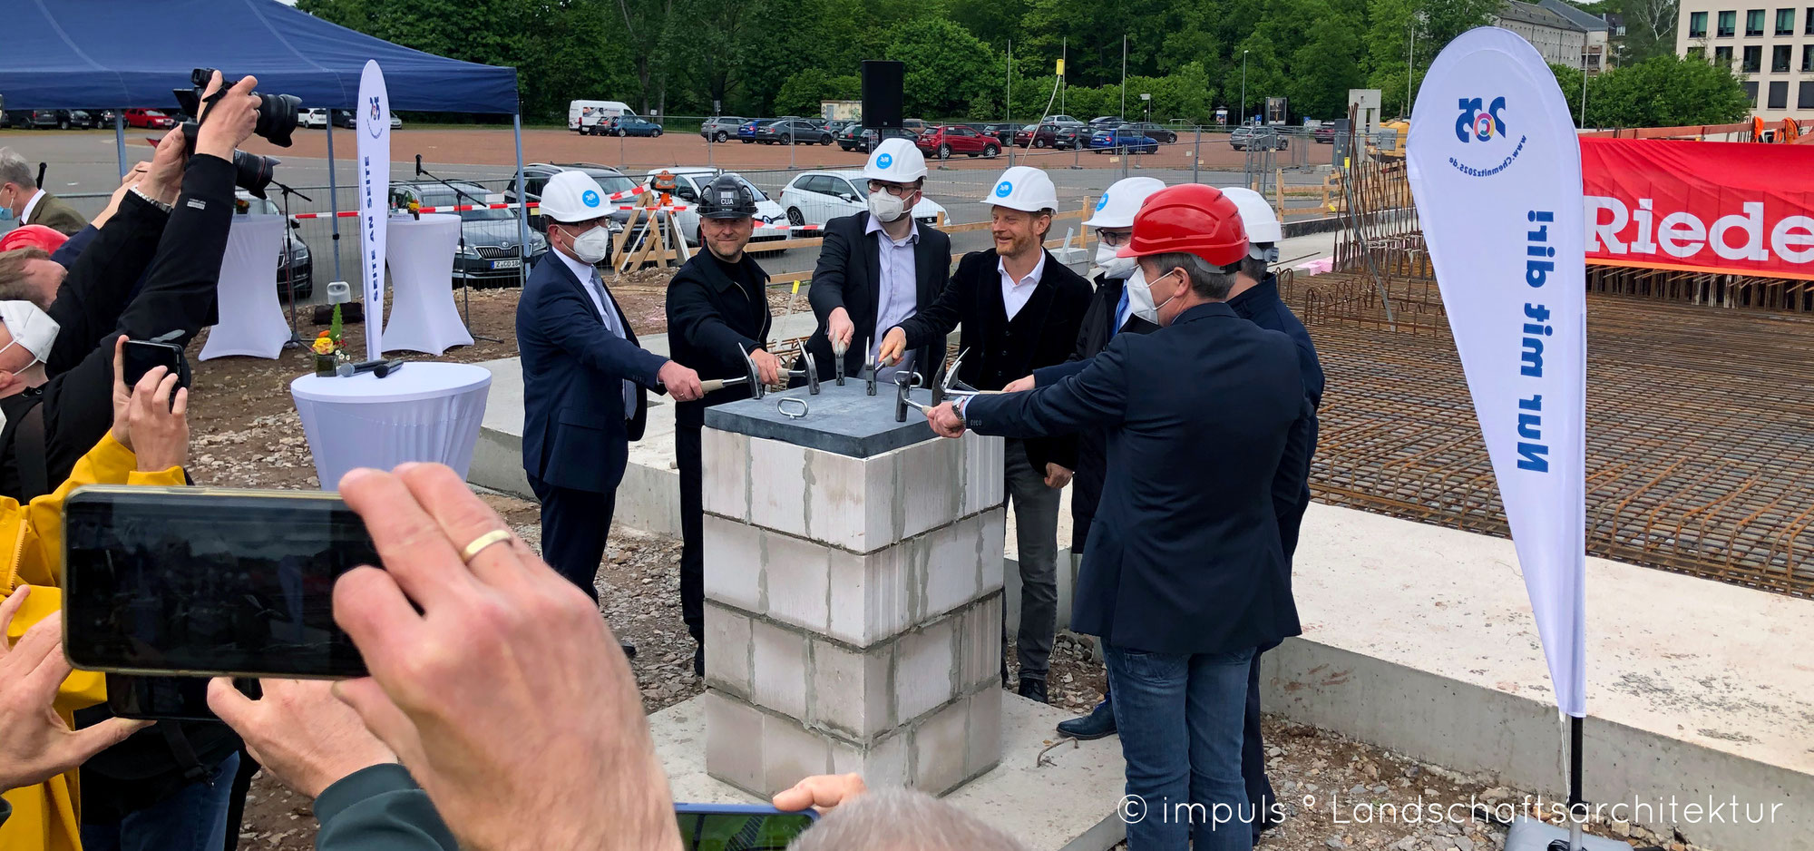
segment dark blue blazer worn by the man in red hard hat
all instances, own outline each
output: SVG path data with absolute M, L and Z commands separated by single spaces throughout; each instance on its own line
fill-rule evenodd
M 978 396 L 965 419 L 1005 437 L 1107 430 L 1072 628 L 1117 648 L 1224 653 L 1302 631 L 1272 503 L 1302 403 L 1292 337 L 1212 303 L 1116 334 L 1050 386 Z

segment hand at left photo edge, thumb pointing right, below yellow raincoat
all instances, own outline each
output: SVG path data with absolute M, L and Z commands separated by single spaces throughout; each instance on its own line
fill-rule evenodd
M 62 611 L 31 624 L 15 648 L 5 646 L 5 628 L 27 593 L 22 586 L 0 601 L 0 791 L 42 784 L 151 726 L 127 719 L 83 729 L 63 724 L 51 708 L 56 688 L 69 677 Z

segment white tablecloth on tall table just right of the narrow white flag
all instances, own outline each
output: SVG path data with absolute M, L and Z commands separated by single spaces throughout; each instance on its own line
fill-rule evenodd
M 470 347 L 472 332 L 454 308 L 459 216 L 430 212 L 421 221 L 397 216 L 390 220 L 385 240 L 385 263 L 390 267 L 385 350 L 441 354 Z

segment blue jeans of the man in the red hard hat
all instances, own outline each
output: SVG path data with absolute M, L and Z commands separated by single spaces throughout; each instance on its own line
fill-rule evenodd
M 1128 851 L 1252 851 L 1241 728 L 1253 648 L 1103 650 L 1126 760 Z

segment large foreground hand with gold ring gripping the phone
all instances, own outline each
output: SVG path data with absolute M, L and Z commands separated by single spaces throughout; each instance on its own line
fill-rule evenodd
M 642 695 L 599 604 L 446 466 L 354 470 L 339 492 L 385 570 L 334 582 L 334 621 L 372 671 L 336 691 L 461 847 L 678 851 Z

